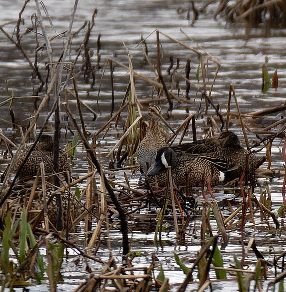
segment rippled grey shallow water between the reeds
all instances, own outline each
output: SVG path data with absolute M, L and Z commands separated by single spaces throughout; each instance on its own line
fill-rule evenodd
M 69 20 L 72 12 L 73 1 L 67 0 L 62 1 L 52 1 L 47 0 L 44 2 L 51 16 L 52 23 L 56 32 L 61 32 L 68 28 Z M 195 3 L 197 8 L 200 8 L 205 4 L 205 1 L 197 1 Z M 212 18 L 212 12 L 215 11 L 216 5 L 213 4 L 208 7 L 207 13 L 200 14 L 199 19 L 191 25 L 192 22 L 192 12 L 190 12 L 191 20 L 187 19 L 187 10 L 189 8 L 189 1 L 181 1 L 177 4 L 177 1 L 143 1 L 139 3 L 134 3 L 134 1 L 97 1 L 96 7 L 98 13 L 95 18 L 95 26 L 92 30 L 90 36 L 90 49 L 94 51 L 94 56 L 92 57 L 93 65 L 97 66 L 96 57 L 96 41 L 98 34 L 101 34 L 101 49 L 99 54 L 101 56 L 99 66 L 100 69 L 96 69 L 96 81 L 93 90 L 90 89 L 90 82 L 85 84 L 83 80 L 82 73 L 80 73 L 80 66 L 82 57 L 79 57 L 78 65 L 75 68 L 75 73 L 77 74 L 78 92 L 82 101 L 84 101 L 88 106 L 90 106 L 96 113 L 97 118 L 93 121 L 94 115 L 90 113 L 85 107 L 83 110 L 83 117 L 87 125 L 87 131 L 93 135 L 96 131 L 103 126 L 103 124 L 108 121 L 111 111 L 111 90 L 110 90 L 110 73 L 109 69 L 103 78 L 103 84 L 101 87 L 101 92 L 99 95 L 99 109 L 96 105 L 99 82 L 101 79 L 101 74 L 103 68 L 105 67 L 106 61 L 109 58 L 114 58 L 116 61 L 120 61 L 125 65 L 128 65 L 127 50 L 124 48 L 122 42 L 128 47 L 128 50 L 132 55 L 132 63 L 134 70 L 148 75 L 150 78 L 155 79 L 155 74 L 150 69 L 148 63 L 144 60 L 144 55 L 141 46 L 136 47 L 140 40 L 141 35 L 147 37 L 154 29 L 159 29 L 165 34 L 184 42 L 187 46 L 195 48 L 202 51 L 202 48 L 206 50 L 213 58 L 215 58 L 221 65 L 220 70 L 215 80 L 213 86 L 213 91 L 211 97 L 215 105 L 220 104 L 222 112 L 226 111 L 227 108 L 227 97 L 229 93 L 229 84 L 233 83 L 235 85 L 237 100 L 241 112 L 246 114 L 259 109 L 264 109 L 267 107 L 275 107 L 283 105 L 285 102 L 285 83 L 286 83 L 286 72 L 285 72 L 285 29 L 269 29 L 267 32 L 265 29 L 246 29 L 243 24 L 241 25 L 229 25 L 223 20 L 214 20 Z M 90 3 L 90 1 L 79 1 L 78 8 L 76 12 L 75 22 L 73 26 L 73 31 L 80 28 L 85 20 L 90 20 L 95 6 Z M 21 9 L 19 1 L 0 1 L 1 9 L 1 21 L 0 25 L 7 23 L 11 20 L 16 21 L 18 18 L 18 13 Z M 27 8 L 24 11 L 23 18 L 25 19 L 25 24 L 21 26 L 21 33 L 25 31 L 27 27 L 30 26 L 31 20 L 30 15 L 36 11 L 34 1 L 30 1 Z M 43 13 L 43 11 L 42 11 Z M 44 14 L 44 13 L 43 13 Z M 48 22 L 45 22 L 49 35 L 55 34 L 54 29 L 52 29 Z M 15 22 L 10 25 L 6 25 L 3 28 L 12 35 L 15 27 Z M 189 36 L 190 39 L 180 32 L 180 28 Z M 70 59 L 73 61 L 77 54 L 77 49 L 84 39 L 84 33 L 86 29 L 80 32 L 78 35 L 74 36 L 73 44 L 70 51 Z M 171 86 L 171 77 L 166 73 L 169 67 L 169 57 L 170 55 L 174 58 L 174 63 L 176 64 L 176 58 L 180 59 L 180 66 L 177 71 L 185 76 L 185 64 L 186 60 L 191 61 L 191 72 L 190 80 L 194 82 L 199 90 L 203 89 L 203 85 L 200 81 L 196 80 L 196 69 L 199 65 L 199 59 L 197 55 L 177 43 L 174 43 L 164 36 L 160 36 L 162 42 L 162 52 L 163 52 L 163 62 L 162 62 L 162 72 L 164 75 L 164 80 L 168 86 Z M 157 51 L 156 51 L 156 36 L 153 33 L 147 40 L 148 46 L 148 56 L 150 61 L 156 64 Z M 43 43 L 43 38 L 39 36 L 39 43 Z M 62 53 L 62 41 L 56 39 L 52 41 L 52 46 L 54 48 L 54 60 L 58 60 Z M 23 36 L 22 47 L 25 52 L 34 61 L 34 35 L 32 33 Z M 27 62 L 22 57 L 20 51 L 15 48 L 15 45 L 11 44 L 9 40 L 0 32 L 0 86 L 1 86 L 1 100 L 0 102 L 6 100 L 10 96 L 10 92 L 7 94 L 5 92 L 6 82 L 8 82 L 8 90 L 14 91 L 15 97 L 20 96 L 30 96 L 33 95 L 33 91 L 38 87 L 38 80 L 31 80 L 32 70 L 27 64 Z M 207 62 L 206 71 L 208 73 L 208 83 L 207 89 L 209 90 L 210 84 L 213 80 L 216 65 L 213 63 L 211 58 L 205 55 L 204 60 Z M 45 76 L 46 70 L 44 69 L 45 62 L 47 60 L 45 52 L 39 52 L 38 62 L 40 63 L 40 69 L 42 76 Z M 270 88 L 266 94 L 261 92 L 262 88 L 262 64 L 267 61 L 267 67 L 270 76 L 273 72 L 278 69 L 279 75 L 279 87 L 277 91 Z M 174 65 L 176 66 L 176 65 Z M 171 70 L 173 72 L 173 69 Z M 115 94 L 115 111 L 120 107 L 122 98 L 126 91 L 129 74 L 126 69 L 122 69 L 115 65 L 114 72 L 114 94 Z M 178 82 L 178 85 L 176 85 Z M 173 93 L 177 95 L 178 89 L 180 87 L 179 97 L 183 98 L 185 94 L 185 81 L 182 78 L 176 77 L 174 82 Z M 72 83 L 69 81 L 67 87 L 72 87 Z M 139 101 L 144 103 L 145 100 L 151 98 L 152 86 L 146 81 L 136 78 L 136 93 L 138 95 Z M 89 94 L 87 94 L 89 91 Z M 40 94 L 43 94 L 40 93 Z M 198 119 L 196 121 L 198 138 L 203 135 L 204 121 L 202 119 L 205 112 L 204 101 L 200 104 L 201 94 L 196 93 L 196 88 L 191 87 L 190 90 L 190 101 L 191 104 L 188 105 L 188 110 L 190 113 L 199 113 Z M 156 95 L 155 95 L 156 97 Z M 196 97 L 196 98 L 195 98 Z M 64 95 L 62 95 L 64 100 Z M 194 100 L 195 98 L 195 100 Z M 166 105 L 166 100 L 161 100 L 159 102 L 162 107 L 162 112 L 168 112 L 168 105 Z M 30 117 L 33 108 L 34 101 L 31 98 L 25 99 L 14 99 L 13 107 L 16 114 L 16 123 L 21 125 L 27 124 L 27 118 Z M 39 102 L 38 102 L 39 104 Z M 51 107 L 52 102 L 50 102 Z M 78 114 L 76 109 L 76 101 L 70 98 L 69 104 L 75 115 Z M 176 102 L 174 101 L 174 109 L 169 112 L 169 122 L 173 128 L 177 128 L 181 122 L 185 119 L 186 115 L 186 102 Z M 10 116 L 8 112 L 9 103 L 2 105 L 0 107 L 1 119 L 10 121 Z M 146 110 L 148 105 L 144 104 L 143 115 L 147 119 Z M 236 112 L 234 101 L 232 101 L 233 112 Z M 47 115 L 49 109 L 41 113 L 38 125 L 41 125 Z M 283 112 L 269 115 L 269 120 L 253 120 L 246 119 L 246 123 L 251 129 L 261 130 L 261 128 L 266 127 L 268 124 L 273 123 L 273 121 L 279 120 Z M 209 107 L 208 116 L 214 115 L 214 110 Z M 65 114 L 63 114 L 63 117 Z M 124 125 L 126 113 L 122 114 L 117 128 L 114 126 L 110 127 L 107 135 L 102 138 L 105 131 L 103 131 L 97 140 L 97 154 L 104 167 L 108 166 L 109 160 L 106 159 L 106 154 L 115 145 L 118 139 L 122 135 L 122 126 Z M 270 119 L 271 118 L 271 119 Z M 53 119 L 50 119 L 50 124 L 52 125 Z M 242 131 L 239 126 L 238 120 L 231 120 L 232 124 L 230 130 L 236 131 L 238 135 L 242 138 Z M 268 124 L 267 124 L 268 123 Z M 12 127 L 0 121 L 1 129 L 8 138 L 12 138 L 15 130 Z M 112 125 L 114 125 L 112 123 Z M 71 126 L 70 122 L 66 122 L 62 119 L 62 127 Z M 271 130 L 277 132 L 280 126 Z M 66 142 L 63 138 L 64 130 L 62 130 L 62 144 Z M 261 135 L 264 137 L 264 135 Z M 67 134 L 67 138 L 71 138 L 71 134 Z M 257 138 L 254 134 L 248 133 L 249 140 L 255 141 Z M 187 132 L 185 141 L 192 139 L 191 131 Z M 17 142 L 20 139 L 17 138 Z M 272 147 L 272 168 L 275 170 L 283 170 L 283 158 L 281 154 L 283 146 L 283 139 L 276 138 L 273 142 Z M 1 145 L 1 149 L 3 145 Z M 262 155 L 265 151 L 259 152 L 258 155 Z M 1 165 L 1 172 L 6 165 Z M 74 161 L 73 174 L 84 175 L 87 172 L 88 162 L 86 160 L 85 150 L 82 147 L 78 147 L 76 160 Z M 266 168 L 267 165 L 262 166 Z M 128 171 L 126 171 L 128 172 Z M 107 172 L 108 173 L 108 172 Z M 117 182 L 124 183 L 123 171 L 115 172 L 115 179 Z M 137 185 L 139 180 L 139 174 L 127 173 L 129 176 L 131 185 L 134 187 Z M 266 183 L 269 183 L 272 196 L 272 211 L 277 214 L 277 210 L 282 204 L 281 189 L 283 178 L 275 177 L 269 178 L 259 175 L 258 184 L 265 187 Z M 255 188 L 255 194 L 257 197 L 260 195 L 259 185 Z M 234 194 L 225 194 L 223 189 L 218 188 L 218 201 L 223 199 L 232 199 Z M 200 192 L 198 192 L 200 194 Z M 238 204 L 241 203 L 241 199 L 237 199 Z M 147 211 L 148 212 L 148 211 Z M 159 212 L 156 210 L 156 213 Z M 222 213 L 227 213 L 227 210 L 222 209 Z M 144 211 L 142 211 L 144 214 Z M 259 215 L 255 215 L 257 222 L 260 220 Z M 194 259 L 196 257 L 197 251 L 200 249 L 200 240 L 194 238 L 192 235 L 186 237 L 186 245 L 179 246 L 175 244 L 175 233 L 173 231 L 172 218 L 169 216 L 168 222 L 170 227 L 167 228 L 166 232 L 162 234 L 162 240 L 164 245 L 159 247 L 157 250 L 153 244 L 154 239 L 154 228 L 156 221 L 154 218 L 150 218 L 148 224 L 146 224 L 146 230 L 142 230 L 138 227 L 138 231 L 133 231 L 129 233 L 131 251 L 144 251 L 144 255 L 135 258 L 134 265 L 149 265 L 151 261 L 151 253 L 155 252 L 159 262 L 164 266 L 165 276 L 169 277 L 171 284 L 177 284 L 183 281 L 185 275 L 180 270 L 178 265 L 176 265 L 173 252 L 178 253 L 180 257 L 187 259 Z M 272 222 L 272 221 L 271 221 Z M 197 217 L 195 220 L 191 220 L 188 230 L 192 233 L 193 227 L 199 226 L 200 218 Z M 211 219 L 211 224 L 213 229 L 217 228 L 214 218 Z M 142 221 L 139 221 L 138 225 L 142 225 Z M 95 224 L 94 224 L 95 226 Z M 245 229 L 245 241 L 252 236 L 256 236 L 256 242 L 259 250 L 272 260 L 273 255 L 276 256 L 285 249 L 285 231 L 281 235 L 278 231 L 274 230 L 274 225 L 271 223 L 271 231 L 257 228 L 257 232 L 253 232 L 253 228 Z M 199 227 L 197 227 L 199 230 Z M 199 231 L 197 231 L 199 234 Z M 80 239 L 83 239 L 83 232 L 78 234 Z M 112 230 L 112 253 L 113 256 L 117 258 L 118 264 L 121 260 L 121 234 Z M 238 243 L 240 240 L 239 232 L 232 232 L 230 235 L 230 243 L 227 248 L 222 251 L 223 259 L 225 265 L 228 263 L 233 264 L 233 255 L 238 254 L 238 258 L 241 255 L 241 245 Z M 105 242 L 106 244 L 106 242 Z M 269 246 L 273 249 L 269 251 Z M 143 248 L 142 248 L 143 247 Z M 43 251 L 45 252 L 45 251 Z M 76 253 L 73 255 L 73 251 L 69 250 L 70 255 L 64 260 L 63 263 L 63 277 L 64 283 L 58 285 L 58 291 L 67 291 L 67 289 L 75 289 L 78 284 L 83 281 L 87 276 L 85 272 L 85 262 Z M 108 248 L 102 246 L 97 255 L 103 260 L 109 259 Z M 75 259 L 79 259 L 79 264 L 75 264 Z M 245 260 L 250 267 L 253 269 L 256 264 L 256 257 L 252 252 L 246 257 Z M 91 268 L 95 271 L 101 269 L 101 265 L 92 263 L 88 261 Z M 186 263 L 186 265 L 191 266 L 191 263 Z M 272 269 L 273 271 L 273 269 Z M 211 271 L 211 279 L 215 279 L 214 272 Z M 273 274 L 269 275 L 269 279 L 273 279 Z M 213 291 L 234 291 L 236 287 L 236 282 L 224 282 L 224 283 L 214 283 L 212 288 Z M 252 285 L 253 286 L 253 285 Z M 266 289 L 267 282 L 264 281 L 263 288 Z M 173 286 L 172 290 L 177 288 Z M 197 284 L 190 284 L 188 289 L 197 288 Z M 36 285 L 29 287 L 30 291 L 46 291 L 48 289 L 48 280 L 46 279 L 42 285 Z M 20 291 L 20 288 L 15 289 L 15 291 Z

